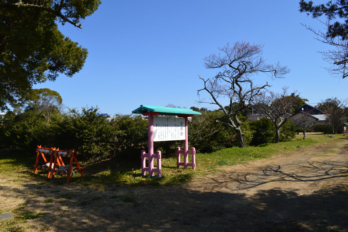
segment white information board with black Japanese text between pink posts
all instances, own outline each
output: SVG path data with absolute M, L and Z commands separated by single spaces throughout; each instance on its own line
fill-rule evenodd
M 153 117 L 153 141 L 185 140 L 185 119 Z

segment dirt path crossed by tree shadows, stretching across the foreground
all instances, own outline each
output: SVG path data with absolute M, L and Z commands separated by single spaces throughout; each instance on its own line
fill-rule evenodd
M 317 144 L 226 166 L 183 186 L 96 191 L 1 181 L 0 206 L 7 201 L 45 212 L 26 221 L 28 232 L 348 231 L 347 144 Z M 44 203 L 52 195 L 54 201 Z

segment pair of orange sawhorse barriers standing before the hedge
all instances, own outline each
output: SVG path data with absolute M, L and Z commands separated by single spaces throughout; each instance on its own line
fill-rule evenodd
M 57 174 L 63 174 L 63 175 L 67 175 L 67 182 L 70 182 L 70 177 L 72 176 L 72 171 L 77 169 L 81 176 L 84 177 L 84 173 L 83 173 L 83 169 L 80 167 L 79 162 L 77 161 L 77 153 L 74 150 L 70 150 L 70 151 L 64 151 L 64 150 L 59 150 L 59 148 L 44 148 L 38 146 L 36 149 L 37 152 L 37 156 L 36 156 L 36 161 L 35 161 L 35 165 L 34 165 L 34 174 L 37 172 L 37 169 L 42 169 L 42 170 L 47 170 L 47 178 L 50 177 L 50 174 L 52 172 L 52 178 L 54 178 L 54 175 Z M 50 155 L 50 161 L 47 162 L 47 159 L 45 157 L 46 155 Z M 40 156 L 42 156 L 42 158 L 45 161 L 45 164 L 49 163 L 48 165 L 39 165 L 39 158 Z M 64 162 L 62 157 L 68 157 L 70 158 L 69 160 L 69 169 L 58 169 L 59 167 L 61 167 L 62 165 L 65 167 Z M 73 167 L 72 166 L 72 162 L 75 161 L 77 167 Z M 58 170 L 57 170 L 58 169 Z

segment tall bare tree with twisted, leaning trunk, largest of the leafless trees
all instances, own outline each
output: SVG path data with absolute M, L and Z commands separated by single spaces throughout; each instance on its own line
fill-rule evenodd
M 202 90 L 209 93 L 209 101 L 200 99 L 199 102 L 215 104 L 221 108 L 224 115 L 215 118 L 215 121 L 235 129 L 241 148 L 245 148 L 245 144 L 238 113 L 251 104 L 263 89 L 270 87 L 268 83 L 254 85 L 252 77 L 255 74 L 266 73 L 272 78 L 279 78 L 290 72 L 286 66 L 280 66 L 279 63 L 266 64 L 262 57 L 262 47 L 246 42 L 220 47 L 222 54 L 211 54 L 203 59 L 206 68 L 218 69 L 217 74 L 208 79 L 199 76 L 204 81 L 204 88 L 198 90 L 198 96 Z M 221 98 L 229 100 L 228 110 L 219 102 Z

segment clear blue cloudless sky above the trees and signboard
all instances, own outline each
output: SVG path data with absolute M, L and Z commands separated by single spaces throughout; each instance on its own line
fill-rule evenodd
M 255 76 L 255 83 L 268 81 L 275 92 L 287 85 L 313 106 L 331 97 L 347 98 L 348 80 L 330 76 L 323 68 L 329 63 L 317 53 L 330 46 L 315 40 L 301 23 L 315 29 L 322 25 L 300 13 L 298 2 L 103 0 L 82 29 L 60 26 L 65 36 L 88 49 L 84 68 L 72 78 L 62 75 L 34 88 L 59 92 L 70 108 L 98 106 L 111 116 L 130 114 L 140 105 L 210 108 L 196 103 L 203 86 L 198 75 L 215 73 L 203 67 L 202 58 L 244 40 L 264 44 L 267 62 L 291 69 L 274 81 Z

